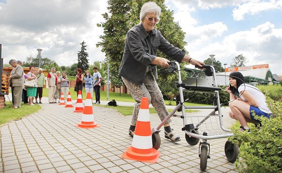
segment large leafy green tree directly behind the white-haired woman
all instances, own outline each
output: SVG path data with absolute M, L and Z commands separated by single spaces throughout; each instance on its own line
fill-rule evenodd
M 134 25 L 139 23 L 139 12 L 143 4 L 148 1 L 143 0 L 109 0 L 108 11 L 104 13 L 105 22 L 97 24 L 104 28 L 104 35 L 101 35 L 101 42 L 97 43 L 97 47 L 101 46 L 105 52 L 107 60 L 110 64 L 110 81 L 114 86 L 121 86 L 123 83 L 118 75 L 119 65 L 124 51 L 124 41 L 127 31 Z M 156 25 L 163 36 L 173 45 L 184 48 L 186 42 L 184 40 L 185 33 L 182 31 L 178 23 L 173 22 L 173 12 L 166 9 L 164 0 L 155 1 L 162 9 L 161 20 Z M 166 57 L 162 52 L 158 52 L 158 56 Z M 172 91 L 174 80 L 159 76 L 158 83 L 160 89 Z M 169 83 L 169 84 L 168 84 Z

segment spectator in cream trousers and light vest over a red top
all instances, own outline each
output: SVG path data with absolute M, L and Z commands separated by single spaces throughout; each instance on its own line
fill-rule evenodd
M 57 85 L 57 75 L 55 74 L 56 69 L 54 67 L 51 68 L 51 72 L 47 75 L 48 87 L 49 87 L 49 103 L 56 103 L 55 101 L 55 93 L 56 93 L 56 85 Z

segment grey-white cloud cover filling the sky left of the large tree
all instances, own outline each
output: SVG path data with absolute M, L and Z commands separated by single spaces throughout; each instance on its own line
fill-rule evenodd
M 9 0 L 0 7 L 0 40 L 6 64 L 12 58 L 26 61 L 27 56 L 36 57 L 36 49 L 41 48 L 42 57 L 69 66 L 77 62 L 83 40 L 90 63 L 105 57 L 96 47 L 103 34 L 103 28 L 96 24 L 104 21 L 107 1 Z

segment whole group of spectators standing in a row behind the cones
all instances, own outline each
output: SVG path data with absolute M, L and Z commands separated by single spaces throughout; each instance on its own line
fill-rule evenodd
M 41 99 L 43 87 L 45 86 L 45 76 L 42 73 L 43 70 L 41 68 L 36 70 L 34 66 L 30 66 L 29 72 L 25 74 L 22 68 L 23 63 L 21 61 L 13 59 L 9 61 L 9 64 L 13 67 L 9 78 L 9 85 L 12 89 L 12 108 L 20 108 L 21 102 L 29 105 L 42 104 Z M 86 71 L 85 74 L 83 74 L 81 69 L 77 69 L 75 91 L 78 95 L 79 90 L 82 91 L 83 83 L 85 81 L 85 90 L 86 92 L 91 93 L 91 98 L 93 97 L 93 89 L 95 91 L 96 102 L 92 101 L 92 103 L 100 104 L 100 87 L 103 79 L 98 72 L 97 66 L 95 66 L 93 70 L 94 73 L 92 76 L 89 71 Z M 32 83 L 34 85 L 30 86 L 27 83 Z M 47 84 L 49 88 L 49 103 L 59 103 L 62 93 L 64 100 L 67 100 L 70 82 L 66 72 L 61 73 L 52 67 L 50 73 L 47 75 Z

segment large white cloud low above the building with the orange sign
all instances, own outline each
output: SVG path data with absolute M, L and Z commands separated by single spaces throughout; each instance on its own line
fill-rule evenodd
M 270 64 L 272 71 L 282 74 L 282 29 L 275 29 L 270 22 L 230 34 L 222 42 L 210 43 L 200 49 L 193 44 L 194 40 L 190 42 L 187 50 L 201 61 L 214 53 L 217 61 L 230 65 L 233 58 L 242 53 L 248 60 L 246 65 Z M 279 45 L 280 48 L 276 48 Z

